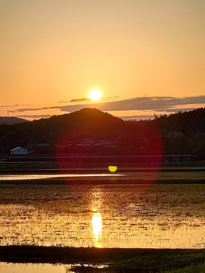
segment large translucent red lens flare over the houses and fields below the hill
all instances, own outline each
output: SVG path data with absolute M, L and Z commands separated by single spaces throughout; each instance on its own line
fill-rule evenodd
M 57 143 L 56 159 L 61 174 L 102 175 L 67 177 L 67 183 L 76 180 L 76 183 L 139 183 L 149 186 L 157 179 L 162 163 L 162 140 L 155 123 L 150 122 L 142 131 L 142 138 L 132 143 L 137 155 L 119 155 L 116 153 L 118 145 L 112 150 L 113 155 L 100 154 L 96 142 L 88 138 L 73 138 L 67 133 Z

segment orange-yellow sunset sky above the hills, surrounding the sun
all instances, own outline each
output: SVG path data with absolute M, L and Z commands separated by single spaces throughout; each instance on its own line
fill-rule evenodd
M 204 0 L 2 0 L 0 21 L 0 116 L 205 106 Z

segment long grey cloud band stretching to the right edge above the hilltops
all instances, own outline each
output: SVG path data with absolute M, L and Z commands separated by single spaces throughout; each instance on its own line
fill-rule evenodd
M 183 98 L 175 97 L 137 97 L 132 99 L 124 99 L 113 102 L 104 103 L 91 103 L 91 104 L 75 104 L 75 105 L 59 105 L 43 108 L 20 108 L 9 112 L 18 113 L 26 111 L 37 111 L 46 109 L 59 109 L 64 112 L 74 112 L 85 107 L 97 108 L 103 111 L 124 111 L 124 110 L 150 110 L 150 111 L 166 111 L 177 112 L 180 109 L 179 106 L 190 104 L 205 104 L 205 96 L 191 96 Z M 174 108 L 177 107 L 178 108 Z M 194 108 L 195 106 L 193 106 Z M 183 108 L 183 107 L 182 107 Z M 187 108 L 192 110 L 193 108 Z

